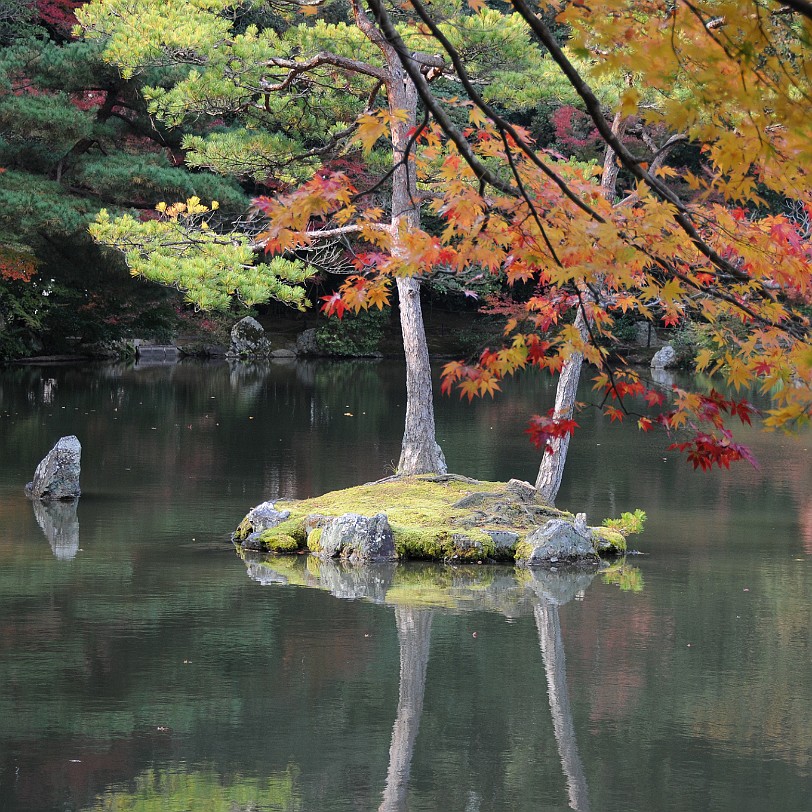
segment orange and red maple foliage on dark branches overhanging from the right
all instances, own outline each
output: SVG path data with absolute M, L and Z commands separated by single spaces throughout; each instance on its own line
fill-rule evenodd
M 370 5 L 397 43 L 383 4 Z M 511 342 L 486 351 L 477 363 L 449 364 L 444 387 L 456 386 L 469 398 L 493 394 L 500 378 L 527 365 L 558 370 L 579 367 L 585 358 L 600 370 L 597 386 L 617 399 L 618 405 L 605 406 L 612 420 L 629 413 L 629 396 L 647 395 L 650 405 L 661 405 L 664 395 L 635 371 L 615 368 L 598 342 L 611 335 L 613 311 L 633 311 L 665 326 L 686 318 L 706 322 L 714 348 L 700 353 L 700 370 L 720 373 L 733 389 L 756 384 L 769 393 L 767 426 L 808 421 L 809 233 L 785 214 L 764 211 L 770 192 L 802 211 L 810 206 L 804 125 L 810 112 L 810 20 L 803 8 L 750 3 L 742 14 L 741 4 L 617 2 L 605 15 L 568 5 L 559 17 L 570 31 L 565 49 L 536 13 L 541 5 L 559 6 L 513 0 L 607 146 L 603 170 L 595 170 L 601 186 L 589 171 L 573 170 L 538 149 L 526 131 L 489 105 L 426 8 L 419 0 L 411 5 L 454 64 L 475 111 L 471 126 L 459 129 L 448 106 L 415 77 L 437 125 L 429 137 L 445 139 L 445 165 L 459 178 L 438 206 L 447 223 L 441 240 L 447 261 L 459 268 L 477 262 L 504 269 L 509 279 L 538 286 L 523 314 L 533 331 L 511 320 Z M 591 65 L 576 66 L 572 52 L 590 55 Z M 614 122 L 587 79 L 607 72 L 631 78 L 619 94 Z M 641 105 L 641 87 L 654 89 L 655 103 Z M 692 91 L 690 104 L 679 89 Z M 668 135 L 649 163 L 619 137 L 631 115 Z M 675 139 L 701 145 L 701 175 L 663 163 Z M 631 182 L 619 201 L 612 200 L 613 164 Z M 568 311 L 575 311 L 574 323 Z M 743 333 L 737 324 L 745 325 Z M 749 422 L 755 410 L 746 402 L 679 389 L 668 394 L 670 403 L 658 415 L 640 416 L 641 429 L 655 423 L 671 432 L 690 428 L 691 439 L 671 447 L 686 452 L 695 467 L 750 459 L 723 420 L 726 414 Z M 568 402 L 573 398 L 574 389 Z M 559 448 L 566 448 L 575 426 L 571 411 L 562 411 L 557 401 L 549 415 L 533 419 L 530 433 L 550 456 L 561 457 Z M 556 491 L 553 483 L 545 495 L 552 500 Z

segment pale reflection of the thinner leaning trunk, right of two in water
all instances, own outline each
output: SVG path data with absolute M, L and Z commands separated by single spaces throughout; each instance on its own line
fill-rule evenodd
M 553 730 L 558 744 L 561 766 L 567 777 L 567 791 L 570 807 L 576 812 L 589 812 L 589 793 L 586 776 L 578 744 L 575 741 L 575 726 L 572 722 L 572 708 L 567 690 L 567 666 L 564 659 L 564 643 L 561 639 L 561 619 L 558 606 L 544 600 L 535 608 L 536 627 L 539 631 L 541 656 L 547 673 L 547 693 L 550 697 L 550 710 L 553 715 Z

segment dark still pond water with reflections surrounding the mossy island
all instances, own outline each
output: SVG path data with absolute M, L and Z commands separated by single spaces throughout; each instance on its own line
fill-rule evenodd
M 591 583 L 246 566 L 248 507 L 386 475 L 402 378 L 0 373 L 0 810 L 812 810 L 812 438 L 745 431 L 761 469 L 702 475 L 587 410 L 559 504 L 649 516 Z M 451 469 L 532 479 L 549 403 L 441 400 Z M 35 516 L 71 433 L 77 515 Z

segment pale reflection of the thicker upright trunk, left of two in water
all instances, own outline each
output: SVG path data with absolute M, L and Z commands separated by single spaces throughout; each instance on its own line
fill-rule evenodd
M 400 690 L 398 715 L 392 728 L 389 771 L 379 812 L 401 812 L 406 808 L 406 791 L 412 753 L 426 688 L 432 612 L 428 609 L 397 607 L 395 621 L 400 641 Z

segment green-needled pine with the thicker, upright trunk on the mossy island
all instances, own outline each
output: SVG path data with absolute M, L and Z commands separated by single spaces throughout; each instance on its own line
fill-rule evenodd
M 339 244 L 354 253 L 357 272 L 346 279 L 341 294 L 326 297 L 324 305 L 326 312 L 340 317 L 347 307 L 383 307 L 389 300 L 389 284 L 379 284 L 374 277 L 379 267 L 392 271 L 407 368 L 406 416 L 397 470 L 404 474 L 443 472 L 445 459 L 435 439 L 421 275 L 416 273 L 421 270 L 428 275 L 436 260 L 442 259 L 442 252 L 432 255 L 432 239 L 420 236 L 423 190 L 418 185 L 414 154 L 418 131 L 414 82 L 360 2 L 349 4 L 347 22 L 351 24 L 317 20 L 290 24 L 281 32 L 249 26 L 245 33 L 235 33 L 229 19 L 234 8 L 228 2 L 155 2 L 137 8 L 127 3 L 94 2 L 82 9 L 79 18 L 86 36 L 104 39 L 106 58 L 121 66 L 125 76 L 156 63 L 194 66 L 173 88 L 148 91 L 152 112 L 162 120 L 177 123 L 192 114 L 220 114 L 244 121 L 244 130 L 186 139 L 184 147 L 193 165 L 234 174 L 245 174 L 250 167 L 254 177 L 264 173 L 266 182 L 268 176 L 275 179 L 277 194 L 254 201 L 267 225 L 250 235 L 251 244 L 273 256 L 270 267 L 262 266 L 260 274 L 288 274 L 287 279 L 295 283 L 301 280 L 301 260 L 309 261 L 314 249 L 325 241 L 347 240 Z M 314 11 L 315 7 L 304 10 Z M 502 21 L 501 15 L 496 18 Z M 512 48 L 508 64 L 513 64 L 528 50 L 527 38 L 517 47 L 510 42 L 515 33 L 511 26 L 503 26 L 500 34 L 494 22 L 493 15 L 490 19 L 487 15 L 473 17 L 462 31 L 457 30 L 457 39 L 462 45 L 473 41 L 481 52 L 485 40 L 501 35 Z M 421 77 L 424 81 L 436 78 L 443 60 L 422 50 L 430 38 L 414 25 L 406 25 L 404 30 L 413 46 L 410 59 Z M 480 67 L 483 75 L 493 74 L 494 69 L 492 59 Z M 513 82 L 513 92 L 531 81 L 532 71 L 523 81 Z M 497 84 L 494 90 L 498 92 Z M 337 150 L 352 150 L 353 143 L 359 142 L 368 162 L 383 166 L 385 148 L 377 147 L 382 139 L 390 150 L 388 166 L 372 189 L 355 188 L 346 173 L 330 166 Z M 123 250 L 136 273 L 174 281 L 204 306 L 223 303 L 222 283 L 226 293 L 246 301 L 261 300 L 256 285 L 249 291 L 241 281 L 242 273 L 256 281 L 256 272 L 244 257 L 235 257 L 233 273 L 219 266 L 206 272 L 205 262 L 200 262 L 194 284 L 177 267 L 170 279 L 169 254 L 156 253 L 151 239 L 157 229 L 169 225 L 164 221 L 147 227 L 131 219 L 103 218 L 92 233 L 95 239 Z M 176 246 L 177 226 L 187 229 L 189 245 L 195 243 L 195 223 L 187 217 L 176 218 L 171 226 Z M 152 233 L 147 235 L 150 229 Z M 210 246 L 217 240 L 210 234 L 205 242 Z M 222 239 L 220 244 L 225 246 L 228 240 Z M 234 240 L 246 244 L 236 236 Z M 364 242 L 370 250 L 359 248 Z M 183 252 L 175 254 L 182 256 Z M 155 267 L 155 257 L 160 257 L 160 267 Z M 418 257 L 419 269 L 412 267 Z M 206 295 L 212 286 L 218 288 L 219 300 Z

